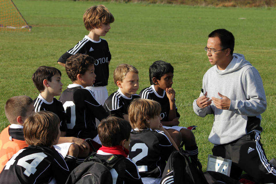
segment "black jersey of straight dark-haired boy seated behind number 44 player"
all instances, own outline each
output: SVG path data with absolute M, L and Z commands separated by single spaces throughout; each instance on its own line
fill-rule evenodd
M 41 110 L 47 110 L 55 113 L 60 118 L 60 131 L 66 132 L 66 113 L 62 106 L 62 103 L 56 98 L 53 98 L 53 101 L 47 102 L 41 94 L 34 99 L 34 111 L 39 112 Z

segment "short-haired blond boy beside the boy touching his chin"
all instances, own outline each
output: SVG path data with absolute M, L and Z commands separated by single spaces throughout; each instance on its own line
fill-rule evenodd
M 104 108 L 109 114 L 128 121 L 129 104 L 133 99 L 140 98 L 136 94 L 139 88 L 138 70 L 129 64 L 120 64 L 114 70 L 113 79 L 119 89 L 106 99 Z

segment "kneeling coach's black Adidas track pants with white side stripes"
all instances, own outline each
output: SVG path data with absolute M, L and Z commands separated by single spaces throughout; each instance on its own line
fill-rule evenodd
M 269 164 L 260 139 L 260 133 L 253 131 L 231 143 L 214 146 L 212 152 L 232 160 L 230 177 L 234 179 L 245 171 L 257 182 L 275 183 L 276 170 Z

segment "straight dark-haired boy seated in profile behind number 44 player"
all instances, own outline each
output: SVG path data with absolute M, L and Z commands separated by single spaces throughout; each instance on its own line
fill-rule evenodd
M 76 167 L 75 162 L 81 162 L 76 160 L 77 156 L 88 156 L 89 144 L 83 139 L 65 137 L 67 131 L 66 113 L 62 103 L 54 97 L 59 96 L 62 92 L 61 72 L 51 66 L 40 66 L 32 75 L 32 81 L 40 92 L 38 97 L 34 99 L 34 111 L 50 111 L 60 118 L 61 137 L 58 140 L 58 145 L 54 145 L 54 147 L 66 159 L 68 167 L 72 170 Z

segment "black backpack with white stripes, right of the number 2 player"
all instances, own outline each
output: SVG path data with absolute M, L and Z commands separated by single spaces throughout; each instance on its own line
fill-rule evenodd
M 200 161 L 193 160 L 185 151 L 174 151 L 168 158 L 168 162 L 162 175 L 161 184 L 208 184 Z

